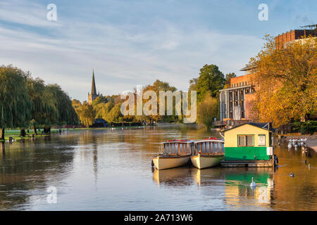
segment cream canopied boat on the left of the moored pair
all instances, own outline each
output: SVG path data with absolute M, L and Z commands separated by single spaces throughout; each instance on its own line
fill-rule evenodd
M 156 169 L 169 169 L 186 165 L 189 162 L 194 141 L 173 140 L 162 143 L 163 152 L 152 159 Z

